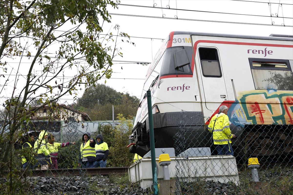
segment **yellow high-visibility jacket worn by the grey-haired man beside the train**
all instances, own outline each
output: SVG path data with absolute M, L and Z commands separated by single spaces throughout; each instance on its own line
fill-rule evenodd
M 231 133 L 229 127 L 229 117 L 224 114 L 216 114 L 212 117 L 207 127 L 209 132 L 213 132 L 213 141 L 216 145 L 232 143 L 231 138 L 233 134 Z

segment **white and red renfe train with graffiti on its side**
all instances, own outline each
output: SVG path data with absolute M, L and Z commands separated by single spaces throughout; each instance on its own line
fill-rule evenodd
M 179 126 L 186 149 L 210 147 L 209 118 L 226 105 L 237 154 L 292 155 L 292 70 L 292 35 L 171 32 L 147 72 L 130 152 L 150 150 L 151 90 L 156 148 L 174 147 Z

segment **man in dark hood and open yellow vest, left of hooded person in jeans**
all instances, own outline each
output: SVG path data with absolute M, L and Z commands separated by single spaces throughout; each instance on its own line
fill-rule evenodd
M 95 140 L 91 138 L 91 134 L 89 132 L 85 132 L 82 135 L 80 153 L 81 162 L 79 163 L 79 166 L 82 165 L 83 168 L 93 168 L 96 160 Z

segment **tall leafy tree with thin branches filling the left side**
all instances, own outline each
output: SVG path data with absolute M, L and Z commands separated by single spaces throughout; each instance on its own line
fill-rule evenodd
M 45 120 L 61 120 L 60 98 L 76 99 L 80 89 L 111 77 L 113 58 L 122 57 L 117 43 L 130 38 L 117 24 L 107 29 L 106 36 L 100 34 L 103 24 L 111 22 L 107 8 L 118 4 L 112 0 L 1 1 L 0 68 L 8 76 L 0 75 L 0 91 L 9 96 L 1 103 L 0 113 L 0 176 L 7 177 L 6 194 L 23 189 L 20 156 L 13 144 L 31 130 L 36 111 L 47 106 Z M 34 109 L 33 102 L 37 102 Z

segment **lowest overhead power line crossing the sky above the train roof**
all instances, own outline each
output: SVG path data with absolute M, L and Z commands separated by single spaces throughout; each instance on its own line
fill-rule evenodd
M 119 14 L 119 13 L 109 13 L 109 14 L 110 15 L 122 15 L 122 16 L 143 17 L 143 18 L 162 18 L 162 17 L 158 17 L 158 16 L 147 16 L 147 15 L 130 15 L 130 14 Z M 285 25 L 272 25 L 272 24 L 261 24 L 261 23 L 226 22 L 226 21 L 216 21 L 216 20 L 196 20 L 196 19 L 187 19 L 187 18 L 168 18 L 168 17 L 163 17 L 163 19 L 201 21 L 201 22 L 216 22 L 216 23 L 231 23 L 231 24 L 248 24 L 248 25 L 293 27 L 293 26 L 289 26 L 289 25 L 286 25 L 285 26 Z

